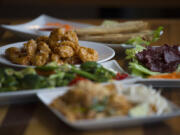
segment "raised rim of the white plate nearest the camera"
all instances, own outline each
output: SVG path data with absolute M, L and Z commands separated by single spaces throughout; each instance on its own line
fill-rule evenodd
M 68 91 L 68 87 L 66 87 L 64 89 L 63 92 L 61 93 L 64 93 Z M 60 94 L 60 92 L 58 91 L 52 91 L 53 93 L 57 93 L 57 95 L 62 95 Z M 51 93 L 51 91 L 48 91 L 48 92 L 39 92 L 37 93 L 37 97 L 38 99 L 45 105 L 48 107 L 48 109 L 50 111 L 52 111 L 54 113 L 55 116 L 58 117 L 59 120 L 62 120 L 64 123 L 66 123 L 67 125 L 73 127 L 73 128 L 78 128 L 78 129 L 96 129 L 96 127 L 91 127 L 93 126 L 93 124 L 96 124 L 96 126 L 100 126 L 100 127 L 97 127 L 97 129 L 101 128 L 101 126 L 103 125 L 103 123 L 106 123 L 105 125 L 107 126 L 108 123 L 111 123 L 111 122 L 116 122 L 116 123 L 122 123 L 122 122 L 135 122 L 135 121 L 140 121 L 140 124 L 142 123 L 146 123 L 146 121 L 150 121 L 150 120 L 154 120 L 154 121 L 161 121 L 161 120 L 165 120 L 165 119 L 168 119 L 168 118 L 171 118 L 171 117 L 175 117 L 175 116 L 179 116 L 180 115 L 180 107 L 177 106 L 176 104 L 172 103 L 170 100 L 168 100 L 167 98 L 166 101 L 168 102 L 169 106 L 171 107 L 172 109 L 172 112 L 170 113 L 165 113 L 165 114 L 161 114 L 161 115 L 153 115 L 153 116 L 148 116 L 148 117 L 135 117 L 135 118 L 132 118 L 132 117 L 128 117 L 128 116 L 125 116 L 125 117 L 121 117 L 121 116 L 115 116 L 115 117 L 109 117 L 109 118 L 103 118 L 103 119 L 100 119 L 100 120 L 97 120 L 97 119 L 93 119 L 93 120 L 82 120 L 82 121 L 78 121 L 78 122 L 74 122 L 74 123 L 71 123 L 69 122 L 65 116 L 63 114 L 61 114 L 60 112 L 58 112 L 56 109 L 52 108 L 49 106 L 48 103 L 46 103 L 42 97 L 44 97 L 43 94 L 47 94 L 47 93 Z M 164 97 L 164 96 L 163 96 Z M 55 99 L 55 97 L 53 98 Z M 88 125 L 89 124 L 89 125 Z M 134 125 L 137 125 L 137 124 L 134 124 Z M 90 126 L 90 127 L 86 127 L 86 126 Z M 108 126 L 107 126 L 108 127 Z M 122 127 L 119 126 L 119 127 Z

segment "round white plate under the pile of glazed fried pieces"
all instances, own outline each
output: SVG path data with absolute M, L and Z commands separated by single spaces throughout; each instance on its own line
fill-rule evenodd
M 9 65 L 9 66 L 14 66 L 14 67 L 28 67 L 28 66 L 23 66 L 23 65 L 19 65 L 19 64 L 14 64 L 5 57 L 5 50 L 7 48 L 9 48 L 9 47 L 21 48 L 24 43 L 25 42 L 18 42 L 18 43 L 8 44 L 8 45 L 0 47 L 0 63 Z M 104 44 L 101 44 L 101 43 L 79 41 L 79 44 L 80 44 L 80 46 L 85 46 L 88 48 L 95 49 L 99 54 L 99 59 L 98 59 L 99 63 L 108 61 L 111 58 L 113 58 L 115 55 L 115 52 L 112 48 L 105 46 Z

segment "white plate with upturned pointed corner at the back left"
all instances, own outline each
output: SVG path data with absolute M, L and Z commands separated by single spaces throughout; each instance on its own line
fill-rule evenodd
M 39 17 L 35 18 L 34 20 L 19 24 L 19 25 L 4 25 L 2 24 L 1 27 L 7 30 L 10 30 L 19 36 L 25 37 L 25 38 L 35 38 L 41 35 L 49 35 L 50 32 L 43 32 L 39 31 L 39 28 L 47 28 L 45 25 L 48 22 L 59 22 L 61 24 L 69 24 L 73 27 L 82 28 L 82 27 L 89 27 L 92 26 L 90 24 L 82 24 L 82 23 L 75 23 L 71 21 L 66 21 L 62 19 L 57 19 L 54 17 L 50 17 L 48 15 L 40 15 Z

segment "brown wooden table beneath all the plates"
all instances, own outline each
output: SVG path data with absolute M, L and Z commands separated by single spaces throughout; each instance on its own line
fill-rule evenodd
M 0 19 L 0 23 L 22 23 L 27 20 Z M 76 20 L 91 24 L 99 24 L 101 20 Z M 147 20 L 152 28 L 164 26 L 164 35 L 157 42 L 158 45 L 180 43 L 180 20 Z M 10 32 L 0 31 L 0 45 L 23 41 Z M 118 53 L 118 52 L 117 52 Z M 116 56 L 122 64 L 122 57 Z M 162 94 L 180 105 L 180 89 L 164 88 Z M 133 126 L 118 129 L 99 131 L 74 130 L 58 120 L 40 102 L 8 104 L 0 106 L 0 135 L 180 135 L 180 117 L 175 117 L 163 122 Z

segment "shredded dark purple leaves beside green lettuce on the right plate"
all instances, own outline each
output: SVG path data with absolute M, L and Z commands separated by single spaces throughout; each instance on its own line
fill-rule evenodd
M 138 61 L 154 72 L 173 72 L 180 64 L 180 51 L 178 46 L 167 44 L 160 47 L 147 47 L 136 54 Z

